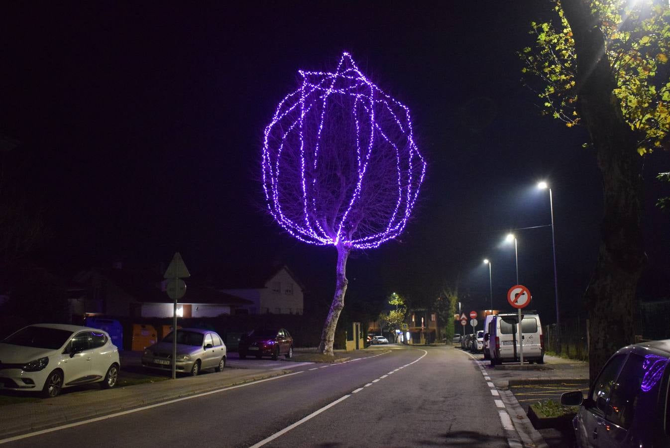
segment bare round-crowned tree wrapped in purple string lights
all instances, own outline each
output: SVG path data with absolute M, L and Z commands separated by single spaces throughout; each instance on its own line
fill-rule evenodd
M 336 289 L 319 352 L 332 355 L 351 250 L 376 248 L 405 228 L 425 175 L 409 109 L 358 70 L 299 71 L 265 128 L 263 189 L 270 213 L 295 238 L 335 246 Z

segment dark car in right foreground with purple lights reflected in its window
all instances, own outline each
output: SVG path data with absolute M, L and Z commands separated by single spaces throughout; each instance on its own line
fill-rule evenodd
M 577 445 L 670 447 L 670 340 L 626 346 L 608 360 L 586 398 L 566 392 L 561 404 L 579 406 L 572 421 Z

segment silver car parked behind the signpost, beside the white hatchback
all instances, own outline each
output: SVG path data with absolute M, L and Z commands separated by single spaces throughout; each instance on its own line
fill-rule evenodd
M 172 371 L 172 341 L 174 331 L 158 344 L 144 350 L 145 368 Z M 179 373 L 196 376 L 200 370 L 220 372 L 226 366 L 226 344 L 216 331 L 200 328 L 177 330 L 177 366 Z

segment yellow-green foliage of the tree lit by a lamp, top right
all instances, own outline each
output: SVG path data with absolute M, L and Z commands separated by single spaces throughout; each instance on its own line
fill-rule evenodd
M 521 71 L 542 80 L 537 93 L 543 113 L 573 127 L 582 122 L 576 107 L 575 41 L 561 2 L 555 3 L 555 23 L 531 22 L 535 47 L 519 53 L 525 62 Z M 670 8 L 651 0 L 590 4 L 594 16 L 602 20 L 600 31 L 616 82 L 614 95 L 626 123 L 638 135 L 638 153 L 670 149 Z

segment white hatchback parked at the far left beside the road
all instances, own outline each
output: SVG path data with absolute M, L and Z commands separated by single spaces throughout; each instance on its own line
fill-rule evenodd
M 78 325 L 28 325 L 0 342 L 0 389 L 54 397 L 65 387 L 119 378 L 119 349 L 105 331 Z

